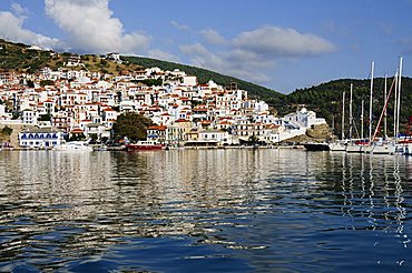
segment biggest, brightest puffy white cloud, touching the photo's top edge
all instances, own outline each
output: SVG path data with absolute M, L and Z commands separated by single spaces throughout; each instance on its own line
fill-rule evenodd
M 82 52 L 138 53 L 148 44 L 143 33 L 125 33 L 112 17 L 109 0 L 45 0 L 46 13 L 69 34 L 69 46 Z

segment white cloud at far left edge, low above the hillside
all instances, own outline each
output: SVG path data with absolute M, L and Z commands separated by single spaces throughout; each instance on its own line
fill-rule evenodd
M 19 6 L 21 8 L 21 6 Z M 13 10 L 19 9 L 17 6 Z M 20 11 L 23 11 L 21 8 Z M 20 13 L 22 14 L 22 13 Z M 36 33 L 24 28 L 24 17 L 0 11 L 0 37 L 10 41 L 36 44 L 45 49 L 59 48 L 62 43 L 55 38 Z

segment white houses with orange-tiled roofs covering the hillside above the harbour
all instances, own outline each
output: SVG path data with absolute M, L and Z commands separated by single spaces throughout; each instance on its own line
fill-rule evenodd
M 109 59 L 118 60 L 118 54 L 111 53 Z M 148 139 L 170 145 L 242 144 L 253 135 L 273 144 L 325 123 L 306 109 L 274 117 L 267 103 L 251 99 L 236 84 L 224 88 L 213 80 L 198 84 L 196 77 L 177 69 L 149 68 L 115 77 L 73 70 L 80 64 L 80 58 L 73 57 L 57 71 L 43 68 L 36 74 L 0 73 L 0 125 L 37 128 L 19 134 L 20 146 L 53 146 L 65 134 L 76 133 L 109 139 L 124 112 L 150 118 L 157 125 L 148 129 Z M 163 85 L 138 82 L 147 79 L 161 79 Z M 53 84 L 40 85 L 45 80 Z M 45 115 L 50 121 L 40 121 Z

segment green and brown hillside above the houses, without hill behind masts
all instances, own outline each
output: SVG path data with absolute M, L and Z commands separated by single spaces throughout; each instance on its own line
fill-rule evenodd
M 0 72 L 12 70 L 18 72 L 33 73 L 43 67 L 49 67 L 56 70 L 59 67 L 62 67 L 63 63 L 66 63 L 73 55 L 78 54 L 36 50 L 23 43 L 12 43 L 0 39 Z M 174 69 L 179 69 L 185 71 L 187 74 L 196 75 L 199 83 L 206 83 L 210 79 L 220 85 L 229 85 L 230 82 L 236 82 L 241 89 L 247 90 L 253 98 L 273 100 L 276 102 L 284 98 L 284 94 L 274 90 L 196 67 L 141 57 L 122 57 L 122 60 L 126 62 L 121 64 L 105 60 L 100 55 L 95 54 L 85 54 L 79 57 L 84 65 L 72 69 L 86 68 L 89 71 L 100 71 L 112 74 L 118 74 L 124 70 L 134 71 L 141 68 L 153 67 L 158 67 L 163 70 L 170 71 Z

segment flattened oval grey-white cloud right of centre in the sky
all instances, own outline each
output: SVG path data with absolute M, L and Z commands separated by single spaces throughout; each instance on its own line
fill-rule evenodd
M 233 42 L 235 47 L 268 57 L 311 57 L 335 50 L 333 43 L 321 37 L 278 27 L 242 32 Z

